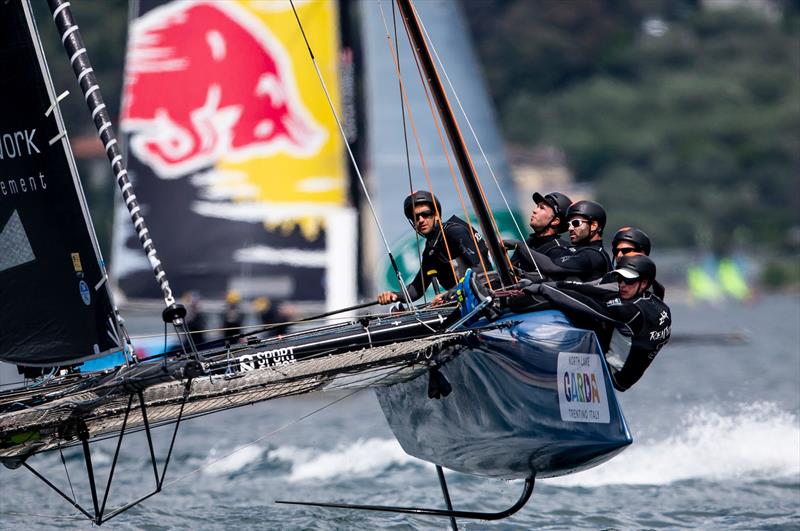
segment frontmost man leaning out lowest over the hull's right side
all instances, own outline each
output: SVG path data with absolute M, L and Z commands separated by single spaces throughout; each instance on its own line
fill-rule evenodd
M 656 354 L 669 341 L 669 307 L 653 294 L 656 265 L 647 256 L 623 256 L 610 273 L 618 296 L 602 286 L 580 282 L 545 282 L 525 291 L 541 295 L 556 308 L 577 312 L 614 327 L 606 361 L 614 387 L 625 391 L 635 384 Z

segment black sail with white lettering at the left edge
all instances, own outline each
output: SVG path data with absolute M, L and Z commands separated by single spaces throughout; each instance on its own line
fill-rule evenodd
M 65 365 L 119 350 L 105 270 L 27 0 L 0 2 L 0 72 L 0 360 Z

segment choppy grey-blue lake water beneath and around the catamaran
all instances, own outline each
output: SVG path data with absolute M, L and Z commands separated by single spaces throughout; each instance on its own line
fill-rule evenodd
M 461 528 L 800 528 L 800 301 L 675 304 L 673 318 L 676 338 L 735 331 L 747 341 L 676 340 L 636 387 L 619 394 L 632 446 L 592 470 L 538 481 L 528 505 L 507 520 L 461 520 Z M 170 435 L 157 430 L 157 455 Z M 94 453 L 100 477 L 113 450 L 105 444 Z M 152 488 L 146 455 L 141 434 L 126 439 L 110 505 Z M 79 500 L 91 506 L 82 455 L 70 449 L 65 457 Z M 70 492 L 58 454 L 30 463 Z M 520 482 L 453 472 L 448 480 L 457 509 L 500 510 L 522 489 Z M 186 422 L 164 491 L 103 527 L 449 528 L 432 517 L 280 506 L 276 499 L 443 506 L 433 466 L 403 453 L 374 395 L 362 391 L 282 399 Z M 88 527 L 22 469 L 0 471 L 0 519 L 4 529 Z

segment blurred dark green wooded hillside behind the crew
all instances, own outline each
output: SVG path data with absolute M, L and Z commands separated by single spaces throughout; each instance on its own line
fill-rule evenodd
M 800 2 L 464 7 L 507 142 L 563 150 L 610 226 L 800 249 Z

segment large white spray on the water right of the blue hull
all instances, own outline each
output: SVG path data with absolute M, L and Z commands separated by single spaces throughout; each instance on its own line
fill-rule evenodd
M 596 468 L 548 485 L 663 485 L 676 481 L 800 480 L 800 422 L 772 402 L 732 405 L 732 413 L 691 410 L 663 440 L 634 441 Z

